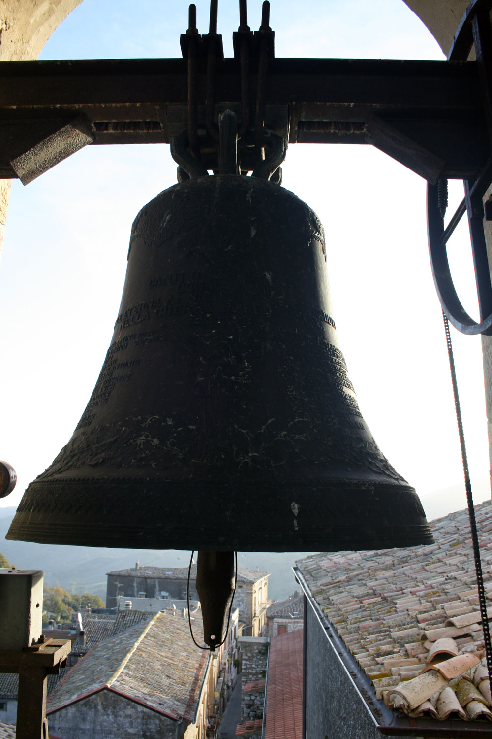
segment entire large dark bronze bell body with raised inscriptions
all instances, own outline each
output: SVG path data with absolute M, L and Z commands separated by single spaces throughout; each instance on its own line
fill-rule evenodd
M 94 392 L 7 538 L 212 551 L 432 542 L 361 417 L 322 225 L 304 202 L 231 174 L 142 208 Z

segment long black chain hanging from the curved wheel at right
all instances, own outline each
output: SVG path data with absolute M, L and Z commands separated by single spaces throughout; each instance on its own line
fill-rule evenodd
M 485 660 L 488 669 L 488 684 L 492 694 L 492 647 L 491 632 L 488 627 L 487 604 L 485 602 L 485 588 L 483 587 L 482 562 L 480 560 L 480 549 L 477 531 L 477 520 L 475 518 L 474 500 L 471 495 L 470 471 L 468 470 L 468 457 L 466 454 L 465 434 L 460 409 L 460 397 L 456 381 L 456 369 L 454 368 L 453 347 L 451 346 L 451 334 L 449 333 L 449 321 L 446 313 L 443 313 L 444 330 L 446 331 L 446 344 L 448 345 L 449 369 L 451 369 L 451 383 L 453 384 L 454 408 L 456 409 L 456 420 L 458 423 L 458 434 L 460 435 L 461 458 L 463 463 L 463 474 L 465 476 L 466 500 L 468 501 L 468 515 L 470 517 L 471 542 L 474 551 L 475 572 L 477 574 L 478 600 L 480 616 L 482 617 L 483 641 L 485 643 Z

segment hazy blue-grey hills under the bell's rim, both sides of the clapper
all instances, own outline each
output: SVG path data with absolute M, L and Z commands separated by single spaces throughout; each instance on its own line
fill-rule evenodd
M 8 511 L 5 514 L 5 511 Z M 94 593 L 105 600 L 106 576 L 111 570 L 142 565 L 187 567 L 191 552 L 176 549 L 111 549 L 57 544 L 12 542 L 5 539 L 15 508 L 0 508 L 0 551 L 17 568 L 44 571 L 46 585 L 60 585 L 71 593 Z M 238 566 L 271 573 L 268 598 L 284 600 L 298 586 L 292 567 L 308 552 L 238 552 Z

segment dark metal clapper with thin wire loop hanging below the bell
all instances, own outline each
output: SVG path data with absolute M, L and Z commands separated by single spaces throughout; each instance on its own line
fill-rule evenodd
M 232 602 L 238 580 L 238 554 L 232 551 L 198 551 L 196 590 L 200 599 L 204 626 L 204 642 L 206 646 L 197 644 L 191 627 L 190 572 L 193 554 L 192 552 L 190 568 L 188 570 L 187 589 L 190 632 L 197 647 L 200 647 L 200 649 L 209 649 L 213 652 L 221 644 L 224 644 L 227 633 L 229 632 Z

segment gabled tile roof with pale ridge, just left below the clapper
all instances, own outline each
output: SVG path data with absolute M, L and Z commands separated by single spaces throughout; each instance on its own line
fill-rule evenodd
M 195 614 L 199 631 L 201 617 Z M 187 619 L 169 611 L 101 641 L 49 697 L 52 713 L 103 689 L 178 721 L 194 721 L 209 653 L 196 649 Z

